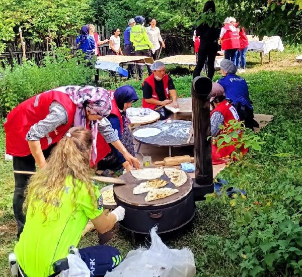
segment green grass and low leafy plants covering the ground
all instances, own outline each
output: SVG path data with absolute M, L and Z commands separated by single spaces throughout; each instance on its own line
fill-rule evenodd
M 271 62 L 265 57 L 262 64 L 259 54 L 248 53 L 247 72 L 243 76 L 249 84 L 255 113 L 272 114 L 274 119 L 259 134 L 265 141 L 259 153 L 251 153 L 243 163 L 231 165 L 219 173 L 229 180 L 230 186 L 244 189 L 246 200 L 237 198 L 234 207 L 230 205 L 231 199 L 224 196 L 198 202 L 196 218 L 187 228 L 163 236 L 169 247 L 189 247 L 193 251 L 196 276 L 294 276 L 302 273 L 302 269 L 294 265 L 301 255 L 293 250 L 302 246 L 299 246 L 302 235 L 293 225 L 302 223 L 302 63 L 294 60 L 300 52 L 301 46 L 286 47 L 282 53 L 272 52 Z M 167 66 L 168 72 L 184 70 L 188 68 Z M 214 80 L 220 76 L 216 72 Z M 173 80 L 178 93 L 189 97 L 192 75 L 173 75 Z M 122 83 L 133 85 L 141 97 L 141 82 Z M 116 84 L 108 88 L 114 89 Z M 141 102 L 135 103 L 135 106 L 140 105 Z M 16 226 L 12 211 L 12 164 L 4 161 L 3 131 L 0 134 L 0 272 L 6 275 L 7 256 L 14 248 Z M 259 205 L 254 204 L 257 202 Z M 285 226 L 288 222 L 292 224 L 290 228 Z M 287 230 L 285 235 L 282 228 Z M 279 257 L 269 256 L 277 252 L 279 246 L 271 245 L 266 249 L 264 243 L 283 243 L 285 238 L 290 238 L 292 248 L 286 246 Z M 142 244 L 143 239 L 140 239 Z M 79 246 L 97 243 L 96 232 L 91 232 Z M 133 249 L 129 233 L 123 230 L 117 232 L 109 244 L 119 248 L 123 256 Z

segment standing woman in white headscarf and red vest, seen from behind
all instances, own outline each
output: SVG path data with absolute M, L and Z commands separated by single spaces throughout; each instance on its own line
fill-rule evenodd
M 224 50 L 224 59 L 232 60 L 236 65 L 236 53 L 240 48 L 239 35 L 236 27 L 236 19 L 233 17 L 224 20 L 224 26 L 221 28 L 219 41 L 221 49 Z

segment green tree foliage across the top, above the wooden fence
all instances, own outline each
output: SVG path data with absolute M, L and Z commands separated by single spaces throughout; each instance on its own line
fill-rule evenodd
M 218 25 L 234 16 L 260 37 L 281 35 L 301 43 L 302 0 L 216 0 L 215 17 L 203 14 L 206 0 L 0 0 L 0 52 L 22 28 L 26 38 L 41 41 L 52 34 L 75 35 L 87 23 L 124 29 L 130 18 L 156 18 L 162 31 L 192 32 L 196 20 Z

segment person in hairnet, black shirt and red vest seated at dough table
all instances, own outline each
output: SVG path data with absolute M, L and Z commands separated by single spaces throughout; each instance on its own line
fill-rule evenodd
M 142 83 L 142 107 L 154 110 L 173 102 L 173 107 L 178 108 L 177 91 L 172 78 L 166 74 L 165 64 L 156 61 L 152 64 L 151 70 L 153 73 Z M 160 114 L 160 120 L 168 117 L 168 110 L 165 107 L 156 112 Z

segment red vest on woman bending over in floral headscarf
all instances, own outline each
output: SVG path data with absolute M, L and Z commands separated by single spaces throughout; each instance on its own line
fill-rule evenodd
M 25 137 L 29 129 L 49 114 L 49 106 L 53 101 L 60 103 L 67 112 L 67 123 L 58 126 L 46 137 L 40 139 L 42 150 L 56 143 L 73 125 L 75 109 L 77 106 L 72 103 L 69 96 L 61 91 L 48 90 L 36 95 L 14 108 L 7 116 L 4 124 L 6 132 L 6 151 L 8 154 L 17 157 L 24 157 L 31 154 L 28 142 Z

